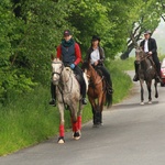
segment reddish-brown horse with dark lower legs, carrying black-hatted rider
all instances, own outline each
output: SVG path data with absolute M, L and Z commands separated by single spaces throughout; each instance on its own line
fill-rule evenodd
M 94 127 L 102 124 L 102 110 L 106 105 L 112 105 L 112 94 L 108 92 L 106 79 L 88 62 L 82 64 L 82 70 L 89 80 L 88 99 L 92 108 Z

